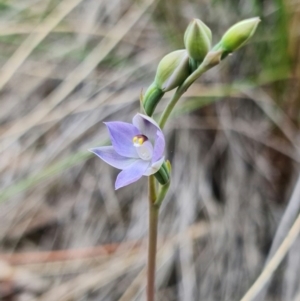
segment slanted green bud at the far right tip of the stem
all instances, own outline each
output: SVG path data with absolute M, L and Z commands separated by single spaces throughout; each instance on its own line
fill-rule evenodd
M 259 22 L 260 19 L 255 17 L 234 24 L 225 32 L 218 48 L 231 53 L 242 47 L 253 36 Z

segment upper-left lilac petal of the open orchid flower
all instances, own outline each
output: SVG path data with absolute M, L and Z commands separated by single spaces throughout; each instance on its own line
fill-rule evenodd
M 134 125 L 121 121 L 105 122 L 105 125 L 108 128 L 112 145 L 119 155 L 129 158 L 139 157 L 132 139 L 141 133 Z

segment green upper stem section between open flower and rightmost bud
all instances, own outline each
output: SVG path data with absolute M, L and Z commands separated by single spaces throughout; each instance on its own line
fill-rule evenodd
M 160 120 L 159 126 L 161 129 L 164 128 L 173 108 L 175 107 L 177 101 L 180 97 L 186 92 L 186 90 L 192 85 L 192 83 L 198 79 L 204 72 L 209 70 L 210 68 L 216 66 L 221 59 L 221 52 L 214 51 L 211 52 L 211 55 L 207 55 L 206 59 L 201 63 L 201 65 L 180 85 L 176 92 L 173 94 L 171 101 L 166 106 L 163 111 Z

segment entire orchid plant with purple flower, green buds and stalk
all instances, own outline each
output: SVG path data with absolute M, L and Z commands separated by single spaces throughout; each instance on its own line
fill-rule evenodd
M 171 164 L 165 161 L 165 137 L 162 129 L 185 91 L 204 72 L 218 65 L 228 54 L 243 46 L 254 34 L 259 18 L 241 21 L 211 47 L 211 30 L 199 19 L 193 19 L 184 35 L 186 49 L 167 54 L 159 63 L 153 83 L 142 96 L 142 113 L 131 123 L 107 122 L 111 146 L 90 149 L 111 166 L 118 168 L 115 189 L 148 176 L 149 243 L 147 301 L 155 299 L 155 262 L 159 208 L 170 186 Z M 165 92 L 176 89 L 157 124 L 150 116 Z

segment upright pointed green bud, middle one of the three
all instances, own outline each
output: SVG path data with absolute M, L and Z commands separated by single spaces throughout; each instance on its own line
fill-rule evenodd
M 193 19 L 184 34 L 184 45 L 189 56 L 202 62 L 211 48 L 211 30 L 199 19 Z

